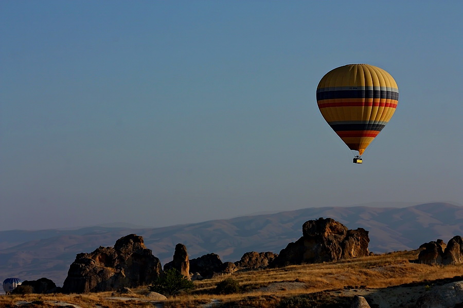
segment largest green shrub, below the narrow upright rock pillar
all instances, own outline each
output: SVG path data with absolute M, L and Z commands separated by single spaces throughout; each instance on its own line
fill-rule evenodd
M 171 268 L 169 271 L 159 276 L 157 280 L 148 287 L 148 290 L 163 295 L 173 295 L 180 290 L 189 291 L 192 288 L 194 288 L 194 284 L 191 280 L 180 274 L 177 269 Z

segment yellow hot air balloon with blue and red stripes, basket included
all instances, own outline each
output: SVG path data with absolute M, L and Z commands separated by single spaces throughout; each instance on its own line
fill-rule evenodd
M 318 83 L 317 104 L 323 118 L 351 149 L 361 155 L 396 111 L 399 89 L 385 70 L 368 64 L 335 68 Z

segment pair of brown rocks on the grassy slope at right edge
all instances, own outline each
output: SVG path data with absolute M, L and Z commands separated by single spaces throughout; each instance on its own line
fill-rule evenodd
M 424 243 L 418 255 L 418 262 L 430 265 L 449 265 L 463 263 L 463 240 L 454 236 L 446 244 L 442 240 Z

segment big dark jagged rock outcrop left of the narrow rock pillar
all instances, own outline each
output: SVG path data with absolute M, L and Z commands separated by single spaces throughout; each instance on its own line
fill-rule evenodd
M 81 253 L 69 266 L 63 292 L 115 291 L 153 282 L 162 272 L 161 262 L 135 234 L 118 239 L 114 247 Z

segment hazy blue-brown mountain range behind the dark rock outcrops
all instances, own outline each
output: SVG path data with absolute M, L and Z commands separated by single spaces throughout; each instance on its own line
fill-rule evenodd
M 186 245 L 190 259 L 216 253 L 225 262 L 237 261 L 251 251 L 279 253 L 302 236 L 304 222 L 320 217 L 333 218 L 349 229 L 365 228 L 369 250 L 375 253 L 416 249 L 424 242 L 438 238 L 447 242 L 463 235 L 463 206 L 442 202 L 408 207 L 312 207 L 162 228 L 10 230 L 0 232 L 0 280 L 46 277 L 62 285 L 78 253 L 113 246 L 132 233 L 143 236 L 163 265 L 172 260 L 177 243 Z

